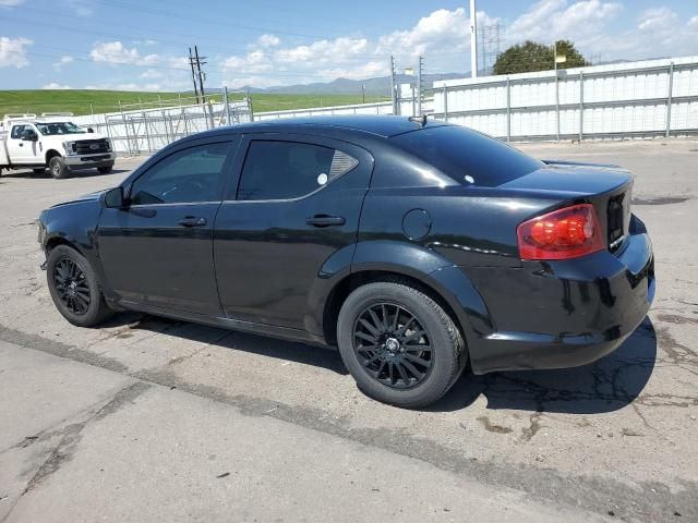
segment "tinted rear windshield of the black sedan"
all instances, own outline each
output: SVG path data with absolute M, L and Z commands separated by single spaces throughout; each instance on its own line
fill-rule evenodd
M 392 139 L 464 185 L 494 187 L 543 167 L 498 139 L 459 125 L 426 127 Z

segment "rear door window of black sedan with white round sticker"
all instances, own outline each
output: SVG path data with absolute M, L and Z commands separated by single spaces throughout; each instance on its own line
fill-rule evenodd
M 252 141 L 242 168 L 238 199 L 306 196 L 358 163 L 356 158 L 332 147 L 300 142 Z

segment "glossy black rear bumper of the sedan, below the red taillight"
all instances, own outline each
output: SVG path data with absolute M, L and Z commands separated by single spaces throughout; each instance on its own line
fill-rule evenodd
M 470 341 L 473 372 L 565 368 L 623 343 L 654 299 L 649 236 L 631 234 L 617 256 L 600 252 L 521 269 L 469 269 L 494 331 Z

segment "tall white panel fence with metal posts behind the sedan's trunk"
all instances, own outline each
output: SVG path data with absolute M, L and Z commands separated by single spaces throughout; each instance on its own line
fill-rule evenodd
M 506 139 L 698 134 L 698 57 L 434 82 L 433 115 Z

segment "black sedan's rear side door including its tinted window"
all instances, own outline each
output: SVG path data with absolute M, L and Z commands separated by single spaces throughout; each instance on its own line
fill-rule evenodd
M 342 250 L 351 260 L 373 158 L 345 142 L 288 134 L 246 135 L 238 157 L 238 191 L 214 233 L 221 305 L 232 319 L 306 329 L 321 268 Z

